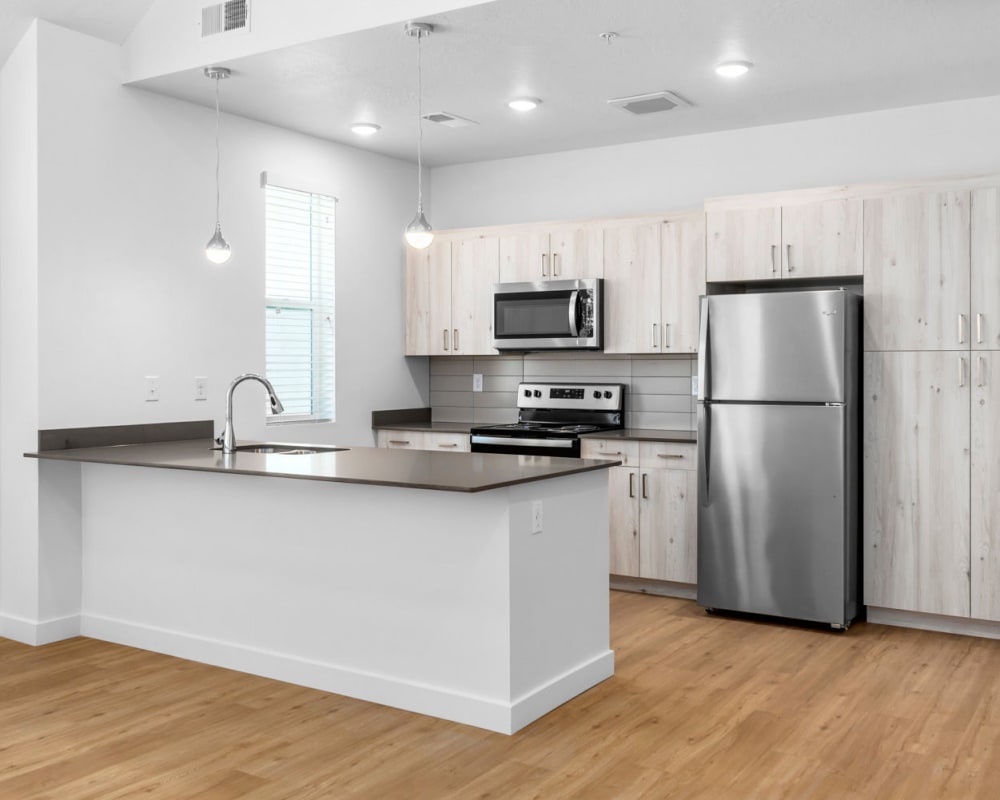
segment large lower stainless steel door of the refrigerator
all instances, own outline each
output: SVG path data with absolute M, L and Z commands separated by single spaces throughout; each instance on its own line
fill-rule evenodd
M 854 616 L 844 406 L 698 406 L 698 604 Z

